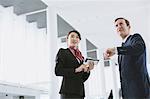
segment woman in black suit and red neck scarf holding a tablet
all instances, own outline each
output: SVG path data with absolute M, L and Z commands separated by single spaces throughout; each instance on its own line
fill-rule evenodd
M 67 35 L 67 49 L 59 49 L 56 57 L 56 76 L 63 76 L 60 89 L 61 99 L 84 99 L 84 82 L 93 69 L 93 62 L 83 64 L 84 57 L 78 49 L 81 40 L 78 31 L 70 31 Z

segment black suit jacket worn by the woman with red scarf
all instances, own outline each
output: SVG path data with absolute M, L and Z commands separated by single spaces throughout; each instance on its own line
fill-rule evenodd
M 75 73 L 75 68 L 79 67 L 83 62 L 79 63 L 72 52 L 67 49 L 59 49 L 56 56 L 56 76 L 63 76 L 60 94 L 85 96 L 84 81 L 86 81 L 90 73 Z

